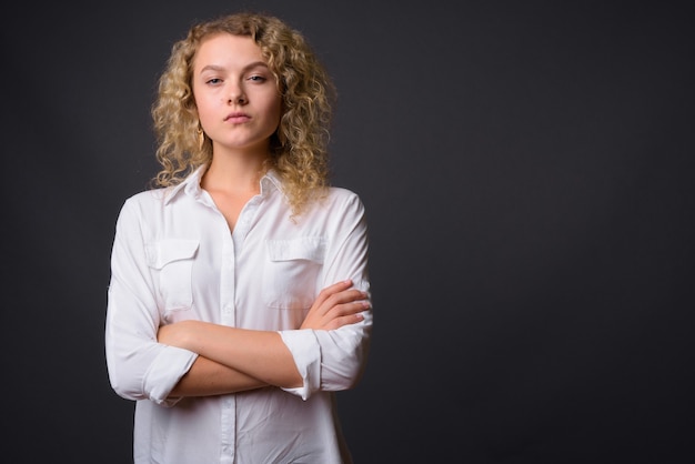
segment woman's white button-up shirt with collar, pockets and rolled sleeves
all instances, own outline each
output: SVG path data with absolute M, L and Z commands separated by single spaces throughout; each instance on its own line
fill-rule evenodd
M 351 462 L 333 392 L 363 372 L 372 312 L 334 331 L 299 327 L 323 288 L 352 279 L 369 292 L 362 202 L 331 188 L 293 221 L 270 172 L 230 233 L 202 173 L 128 199 L 115 226 L 105 353 L 112 387 L 135 401 L 134 462 Z M 157 331 L 189 319 L 278 331 L 303 386 L 169 399 L 197 354 L 158 343 Z

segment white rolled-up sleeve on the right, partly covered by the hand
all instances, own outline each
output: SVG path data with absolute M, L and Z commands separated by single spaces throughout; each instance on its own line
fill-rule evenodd
M 341 208 L 332 205 L 321 289 L 351 279 L 355 289 L 367 293 L 371 303 L 367 259 L 369 241 L 365 211 L 359 196 L 343 191 Z M 319 289 L 319 290 L 321 290 Z M 363 312 L 364 320 L 336 330 L 281 331 L 292 352 L 303 385 L 284 389 L 306 400 L 315 391 L 352 389 L 366 366 L 373 324 L 372 309 Z

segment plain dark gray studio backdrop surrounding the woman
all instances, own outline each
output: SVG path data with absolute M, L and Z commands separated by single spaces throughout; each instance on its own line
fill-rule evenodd
M 333 181 L 370 221 L 356 463 L 692 463 L 694 33 L 686 2 L 2 7 L 1 366 L 12 462 L 127 463 L 108 384 L 118 211 L 198 19 L 278 14 L 340 101 Z

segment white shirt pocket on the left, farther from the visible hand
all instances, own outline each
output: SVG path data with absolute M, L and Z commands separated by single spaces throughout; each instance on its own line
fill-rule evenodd
M 145 245 L 145 258 L 158 281 L 164 313 L 188 310 L 193 304 L 193 261 L 198 240 L 159 240 Z

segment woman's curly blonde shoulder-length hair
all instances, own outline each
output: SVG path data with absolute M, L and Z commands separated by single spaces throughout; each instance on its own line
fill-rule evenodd
M 304 37 L 282 20 L 242 12 L 194 24 L 175 42 L 159 79 L 152 105 L 162 169 L 153 186 L 170 186 L 212 160 L 212 142 L 199 139 L 199 118 L 192 90 L 193 60 L 204 39 L 219 34 L 251 37 L 282 94 L 282 114 L 271 137 L 270 167 L 283 180 L 294 214 L 329 185 L 329 128 L 335 89 Z

